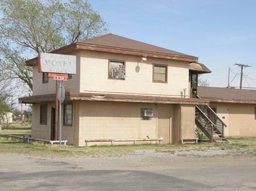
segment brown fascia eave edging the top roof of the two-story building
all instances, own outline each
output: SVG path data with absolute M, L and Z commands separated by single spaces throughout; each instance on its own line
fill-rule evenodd
M 147 55 L 147 57 L 152 58 L 165 58 L 165 59 L 172 59 L 172 60 L 181 60 L 187 62 L 197 62 L 198 57 L 193 57 L 189 55 L 175 55 L 175 54 L 162 54 L 159 52 L 149 52 L 143 50 L 134 50 L 134 49 L 123 49 L 118 47 L 108 47 L 104 45 L 93 45 L 93 44 L 84 44 L 81 42 L 76 42 L 74 44 L 66 45 L 60 49 L 54 50 L 51 53 L 55 54 L 67 54 L 72 50 L 94 50 L 100 52 L 111 52 L 115 54 L 126 54 L 126 55 Z M 37 57 L 32 58 L 31 60 L 26 61 L 27 66 L 33 66 L 37 64 Z

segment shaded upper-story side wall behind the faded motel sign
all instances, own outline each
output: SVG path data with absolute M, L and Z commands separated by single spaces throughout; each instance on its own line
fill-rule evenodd
M 69 55 L 77 56 L 76 75 L 72 75 L 72 79 L 64 82 L 65 90 L 79 92 L 80 83 L 80 54 L 81 51 L 70 52 Z M 38 67 L 33 67 L 33 95 L 46 95 L 55 93 L 56 80 L 49 79 L 48 83 L 42 83 L 42 73 L 38 72 Z

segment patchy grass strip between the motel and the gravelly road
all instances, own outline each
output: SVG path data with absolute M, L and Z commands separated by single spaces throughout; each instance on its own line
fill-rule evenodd
M 121 156 L 122 154 L 133 154 L 136 150 L 152 149 L 156 152 L 175 154 L 175 151 L 205 151 L 207 149 L 235 150 L 246 154 L 244 150 L 256 154 L 256 137 L 230 138 L 229 143 L 205 142 L 199 144 L 127 144 L 127 145 L 101 145 L 90 147 L 61 146 L 41 144 L 38 142 L 22 142 L 17 139 L 4 137 L 6 134 L 30 134 L 29 123 L 13 123 L 9 129 L 0 131 L 0 152 L 13 152 L 18 154 L 29 154 L 33 156 Z

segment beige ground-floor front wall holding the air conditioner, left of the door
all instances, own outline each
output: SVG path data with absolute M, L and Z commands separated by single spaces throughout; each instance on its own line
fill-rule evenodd
M 151 108 L 154 117 L 140 119 L 140 108 Z M 85 139 L 155 139 L 156 106 L 143 103 L 81 101 L 79 146 Z

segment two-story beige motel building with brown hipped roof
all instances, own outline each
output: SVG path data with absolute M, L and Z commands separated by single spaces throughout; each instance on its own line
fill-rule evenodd
M 85 139 L 155 139 L 164 143 L 195 138 L 195 105 L 209 101 L 192 98 L 197 74 L 210 70 L 198 58 L 107 34 L 54 50 L 76 55 L 76 75 L 64 82 L 62 137 L 84 146 Z M 56 82 L 34 69 L 32 137 L 53 139 Z

